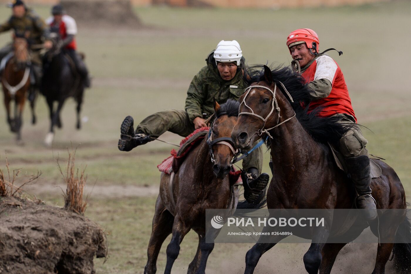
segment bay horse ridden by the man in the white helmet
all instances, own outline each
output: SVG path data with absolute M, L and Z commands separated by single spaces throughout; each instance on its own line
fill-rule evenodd
M 217 142 L 217 138 L 230 137 L 237 120 L 238 106 L 238 102 L 234 100 L 227 101 L 221 107 L 215 103 L 216 118 L 212 124 L 212 140 Z M 233 201 L 230 203 L 231 184 L 227 175 L 234 156 L 233 148 L 216 143 L 212 145 L 214 155 L 214 162 L 212 162 L 206 139 L 204 138 L 188 154 L 174 176 L 171 191 L 169 186 L 171 175 L 162 174 L 148 244 L 145 274 L 156 272 L 160 248 L 167 236 L 172 233 L 171 242 L 167 246 L 167 265 L 164 271 L 164 273 L 171 273 L 173 263 L 180 252 L 180 243 L 191 229 L 199 235 L 199 245 L 194 260 L 189 264 L 188 273 L 205 273 L 208 255 L 214 248 L 214 244 L 205 242 L 205 209 L 227 209 L 232 204 Z M 173 197 L 170 193 L 173 193 Z M 238 203 L 237 208 L 259 208 L 263 203 L 253 205 L 244 201 Z

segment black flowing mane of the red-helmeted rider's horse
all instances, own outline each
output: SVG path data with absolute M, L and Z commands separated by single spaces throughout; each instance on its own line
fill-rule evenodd
M 352 125 L 341 124 L 338 121 L 340 117 L 319 117 L 318 113 L 322 107 L 316 107 L 308 113 L 308 106 L 311 102 L 309 96 L 309 87 L 301 74 L 293 72 L 289 67 L 270 67 L 272 80 L 277 83 L 279 89 L 287 98 L 291 107 L 296 112 L 296 117 L 305 131 L 319 143 L 337 142 L 344 135 L 344 132 L 351 128 Z M 252 65 L 246 68 L 244 81 L 250 85 L 254 82 L 266 81 L 264 77 L 263 65 Z M 287 88 L 294 102 L 291 102 L 289 96 L 285 93 L 281 82 Z M 264 137 L 265 138 L 265 137 Z M 269 144 L 269 140 L 267 140 Z

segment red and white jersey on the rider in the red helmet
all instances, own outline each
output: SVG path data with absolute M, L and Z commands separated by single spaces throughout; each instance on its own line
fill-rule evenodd
M 323 109 L 319 112 L 319 116 L 330 117 L 337 113 L 342 113 L 353 116 L 357 121 L 344 75 L 334 59 L 328 55 L 319 56 L 302 72 L 302 76 L 307 83 L 318 79 L 327 79 L 332 84 L 330 95 L 326 98 L 312 101 L 308 107 L 309 111 L 321 106 Z

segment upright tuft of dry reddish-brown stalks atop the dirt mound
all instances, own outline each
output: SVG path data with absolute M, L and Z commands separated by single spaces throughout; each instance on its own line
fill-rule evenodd
M 85 201 L 83 201 L 83 190 L 85 182 L 87 181 L 87 174 L 85 174 L 85 169 L 87 166 L 85 166 L 82 170 L 79 170 L 78 168 L 76 169 L 74 165 L 76 158 L 76 150 L 72 149 L 72 151 L 70 152 L 67 149 L 67 152 L 69 153 L 69 159 L 67 161 L 67 168 L 64 173 L 57 159 L 57 165 L 60 170 L 60 173 L 63 176 L 65 182 L 67 183 L 66 193 L 63 193 L 64 207 L 65 209 L 74 211 L 77 214 L 84 215 L 84 211 L 87 207 L 88 200 L 87 195 Z

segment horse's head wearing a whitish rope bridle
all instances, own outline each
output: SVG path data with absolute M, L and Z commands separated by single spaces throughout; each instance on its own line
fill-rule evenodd
M 286 91 L 281 82 L 273 79 L 270 68 L 265 65 L 264 74 L 260 73 L 258 80 L 254 81 L 240 97 L 238 120 L 231 132 L 236 147 L 251 148 L 263 134 L 271 137 L 269 130 L 295 116 L 279 86 Z M 291 95 L 289 98 L 292 102 Z

